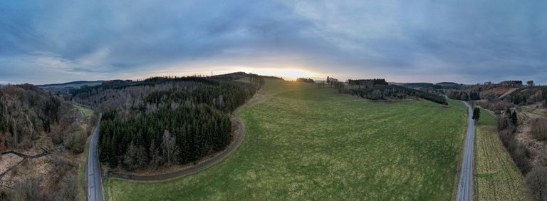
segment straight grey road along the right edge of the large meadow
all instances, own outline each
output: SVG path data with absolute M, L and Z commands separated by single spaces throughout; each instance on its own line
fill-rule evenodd
M 473 197 L 473 145 L 475 139 L 475 126 L 473 123 L 473 110 L 462 101 L 467 107 L 468 126 L 467 137 L 465 139 L 464 159 L 462 160 L 462 170 L 459 172 L 458 192 L 456 200 L 472 200 Z

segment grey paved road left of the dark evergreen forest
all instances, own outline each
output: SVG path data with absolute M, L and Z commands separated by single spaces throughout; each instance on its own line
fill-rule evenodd
M 97 143 L 99 140 L 99 128 L 100 118 L 103 114 L 99 114 L 97 125 L 93 130 L 91 136 L 91 143 L 89 143 L 89 155 L 88 155 L 88 200 L 100 200 L 103 201 L 103 180 L 100 176 L 99 166 L 99 152 L 97 149 Z

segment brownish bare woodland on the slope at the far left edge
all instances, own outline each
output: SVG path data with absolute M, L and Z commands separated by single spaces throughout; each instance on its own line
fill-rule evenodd
M 77 127 L 70 103 L 31 84 L 0 88 L 0 150 L 28 149 L 33 140 L 62 143 Z

